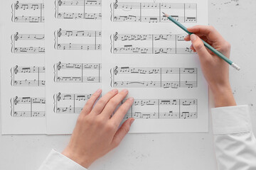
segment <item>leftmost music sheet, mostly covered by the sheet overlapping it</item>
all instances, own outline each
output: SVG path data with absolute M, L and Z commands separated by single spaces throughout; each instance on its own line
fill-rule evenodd
M 1 131 L 45 134 L 43 1 L 1 1 Z

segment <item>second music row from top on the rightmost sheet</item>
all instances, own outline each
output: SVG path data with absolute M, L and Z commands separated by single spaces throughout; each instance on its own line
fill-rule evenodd
M 118 34 L 112 35 L 114 54 L 194 54 L 184 40 L 186 34 Z

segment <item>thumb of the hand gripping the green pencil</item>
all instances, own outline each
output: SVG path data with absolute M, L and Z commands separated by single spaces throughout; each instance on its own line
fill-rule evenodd
M 206 47 L 203 45 L 203 41 L 198 37 L 198 35 L 191 34 L 191 42 L 199 57 L 208 55 Z

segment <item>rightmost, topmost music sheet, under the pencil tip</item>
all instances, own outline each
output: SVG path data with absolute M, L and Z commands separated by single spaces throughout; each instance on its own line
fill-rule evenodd
M 102 88 L 128 89 L 130 132 L 208 132 L 208 85 L 186 33 L 208 24 L 205 0 L 102 1 Z

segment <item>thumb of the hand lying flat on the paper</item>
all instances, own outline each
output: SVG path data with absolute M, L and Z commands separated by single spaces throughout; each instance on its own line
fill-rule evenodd
M 117 147 L 120 144 L 120 142 L 122 142 L 125 135 L 127 135 L 127 133 L 129 132 L 129 129 L 131 128 L 131 125 L 133 122 L 134 122 L 134 118 L 129 118 L 122 124 L 121 128 L 119 128 L 119 130 L 117 130 L 117 132 L 114 135 L 113 140 L 112 140 L 113 148 Z

